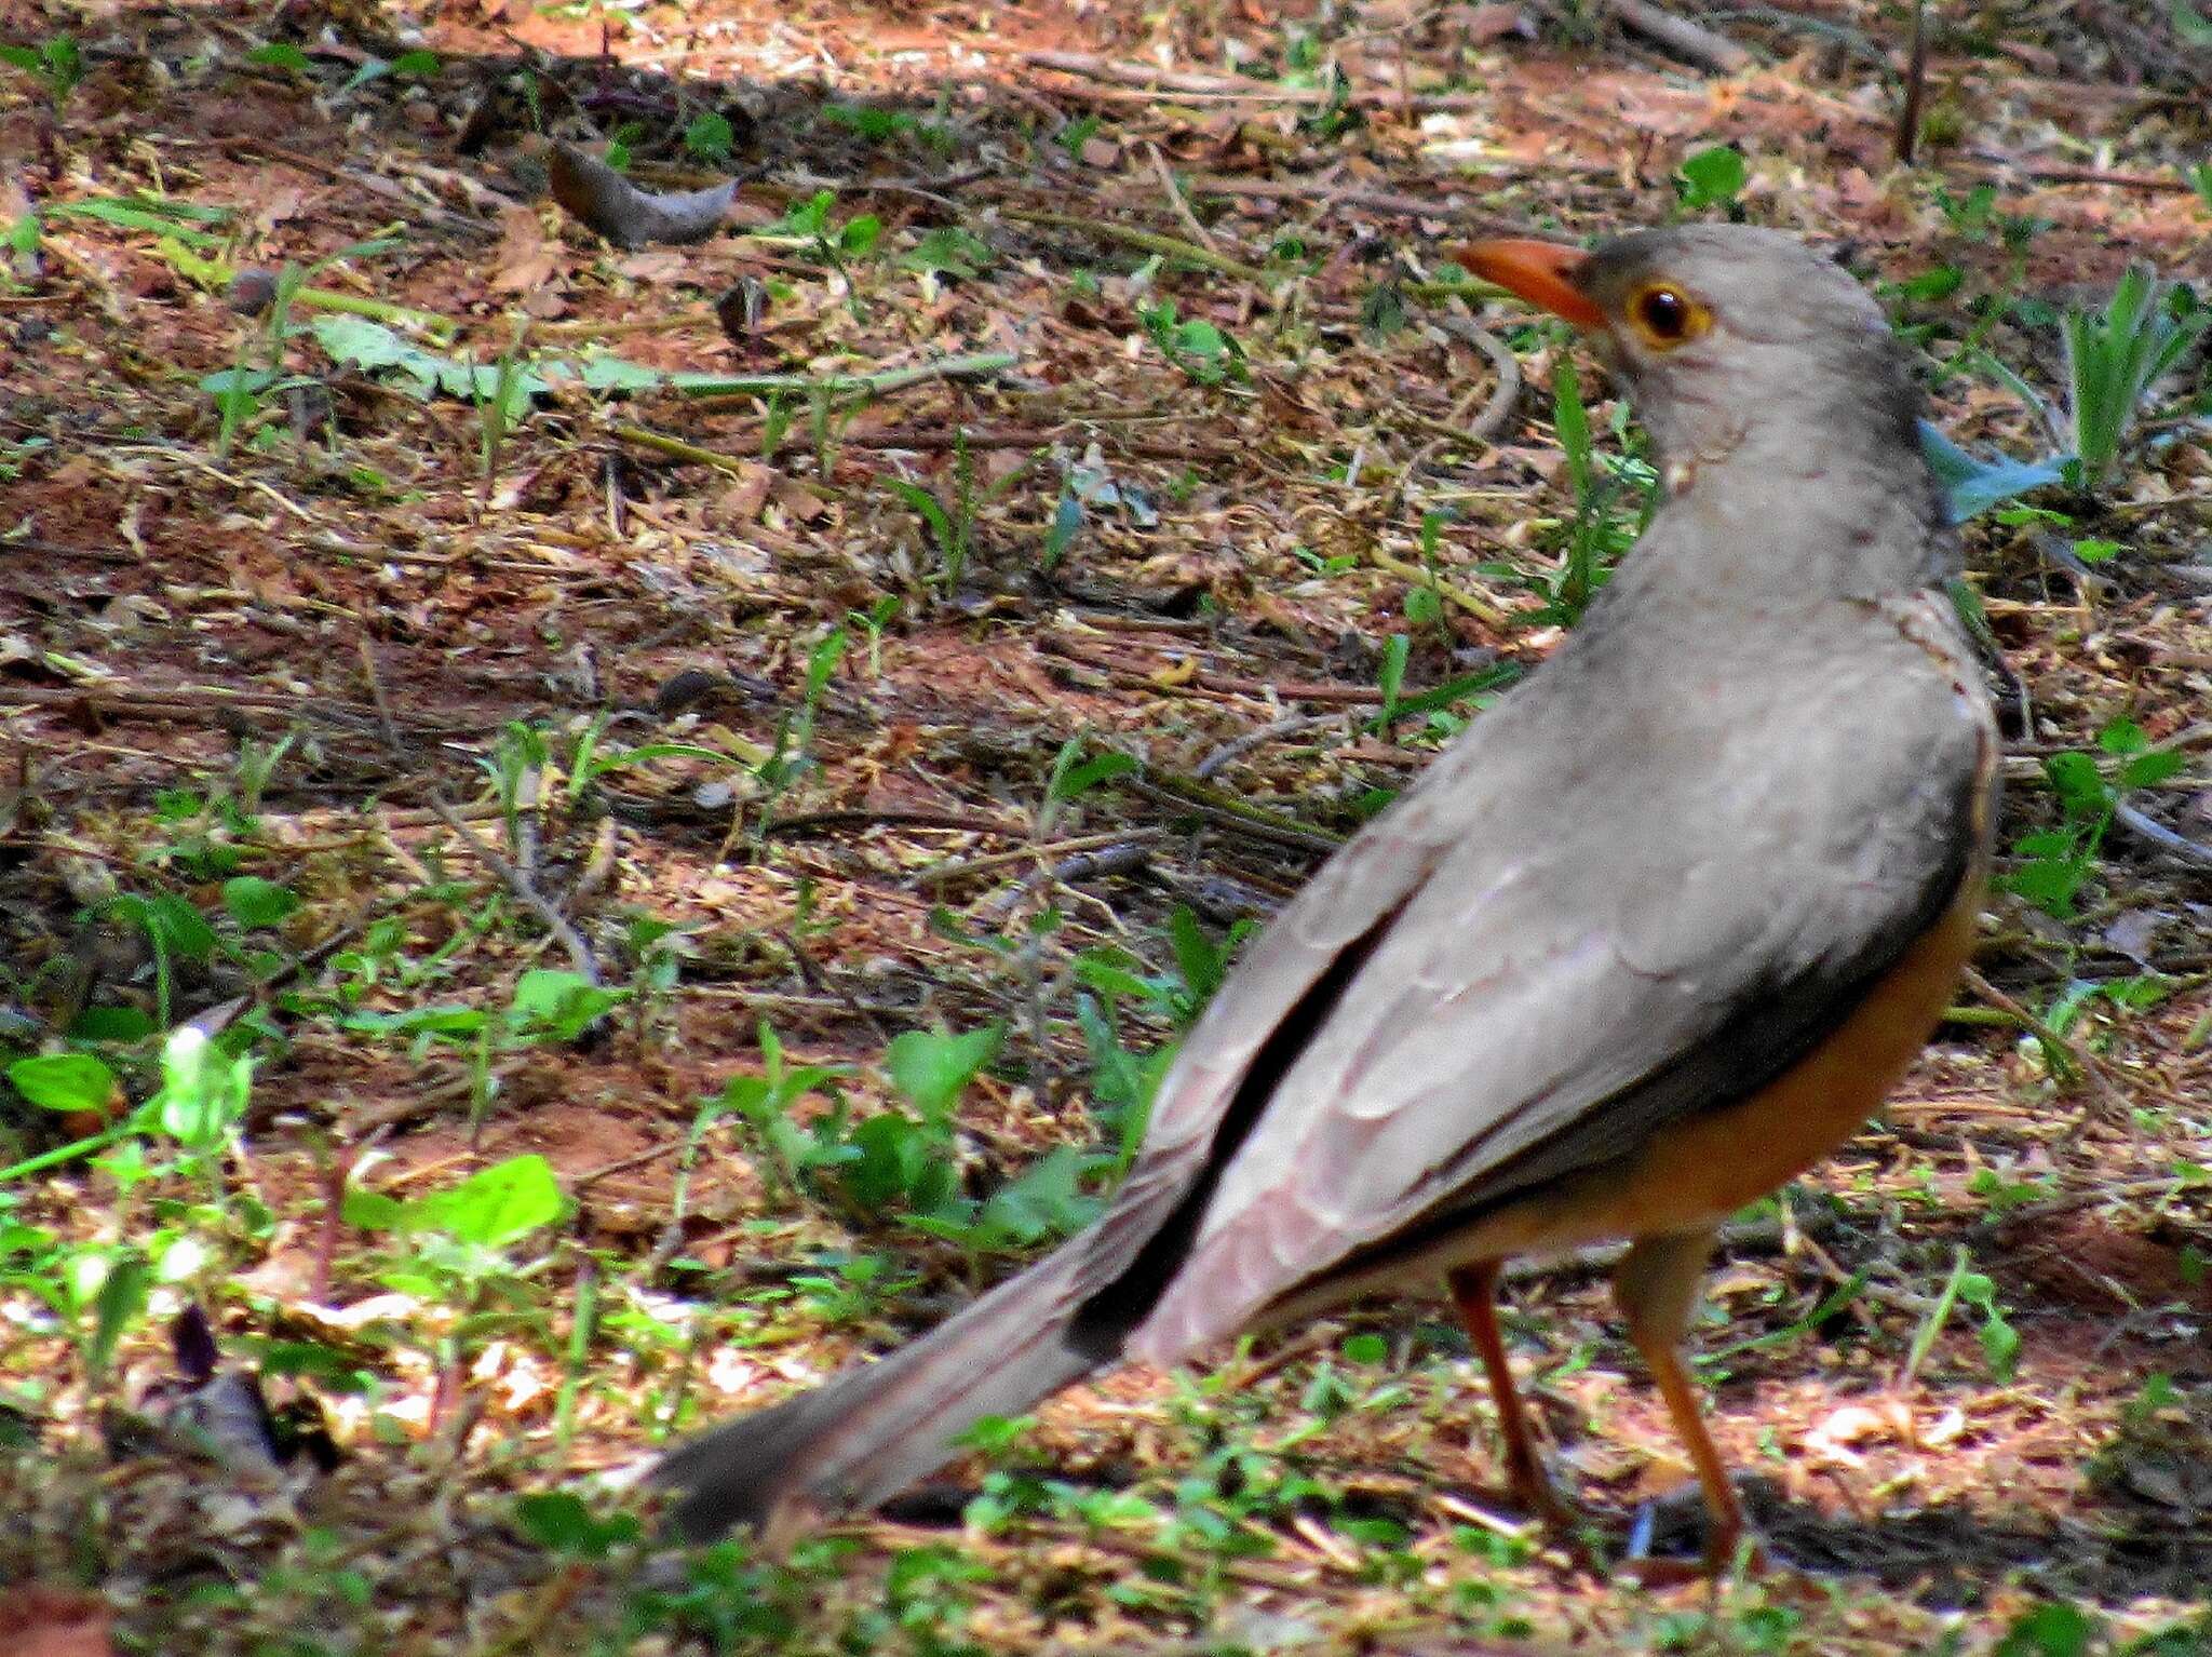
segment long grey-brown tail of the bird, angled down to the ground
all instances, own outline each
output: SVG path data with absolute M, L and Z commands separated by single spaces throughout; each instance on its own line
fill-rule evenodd
M 1086 1241 L 887 1358 L 679 1445 L 653 1469 L 655 1484 L 677 1491 L 675 1524 L 706 1540 L 805 1507 L 874 1507 L 949 1462 L 953 1440 L 984 1416 L 1020 1416 L 1113 1363 L 1126 1327 L 1099 1327 L 1086 1310 Z

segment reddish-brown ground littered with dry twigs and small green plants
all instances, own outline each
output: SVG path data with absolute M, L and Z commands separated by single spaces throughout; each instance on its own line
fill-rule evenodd
M 0 1653 L 2212 1650 L 2201 354 L 1982 473 L 1975 976 L 1697 1334 L 1790 1569 L 1604 1564 L 1697 1504 L 1590 1263 L 1506 1321 L 1595 1553 L 1413 1301 L 785 1553 L 602 1478 L 1095 1212 L 1632 540 L 1453 241 L 1803 232 L 2022 462 L 2070 312 L 2212 301 L 2190 7 L 1604 13 L 0 0 Z M 617 248 L 549 139 L 739 184 Z

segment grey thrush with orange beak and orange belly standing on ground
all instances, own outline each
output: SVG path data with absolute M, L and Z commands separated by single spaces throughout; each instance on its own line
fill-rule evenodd
M 1442 1279 L 1511 1496 L 1571 1522 L 1498 1327 L 1506 1261 L 1628 1241 L 1626 1334 L 1745 1542 L 1683 1358 L 1719 1226 L 1838 1148 L 1973 949 L 1997 732 L 1909 352 L 1752 226 L 1498 239 L 1582 330 L 1657 507 L 1551 657 L 1259 931 L 1099 1219 L 933 1332 L 679 1442 L 695 1540 L 874 1507 L 1124 1363 Z

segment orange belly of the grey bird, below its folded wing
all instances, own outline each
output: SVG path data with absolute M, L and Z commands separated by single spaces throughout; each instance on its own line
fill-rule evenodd
M 1776 1082 L 1531 1190 L 1455 1237 L 1453 1261 L 1431 1265 L 1714 1226 L 1805 1173 L 1874 1115 L 1927 1044 L 1973 951 L 1978 907 L 1980 880 L 1969 880 L 1858 1009 Z

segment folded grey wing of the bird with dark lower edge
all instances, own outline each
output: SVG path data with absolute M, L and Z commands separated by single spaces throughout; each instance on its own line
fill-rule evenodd
M 1617 650 L 1593 684 L 1635 684 Z M 1130 1354 L 1181 1356 L 1438 1208 L 1803 1057 L 1975 847 L 1986 706 L 1931 655 L 1840 606 L 1750 681 L 1721 664 L 1604 706 L 1559 659 L 1520 719 L 1484 715 L 1276 918 L 1170 1073 L 1139 1177 L 1175 1170 L 1186 1212 Z

